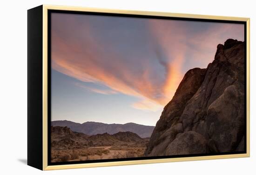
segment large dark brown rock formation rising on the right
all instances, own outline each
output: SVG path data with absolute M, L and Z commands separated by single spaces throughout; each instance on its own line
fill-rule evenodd
M 181 81 L 148 143 L 145 156 L 244 150 L 244 43 L 219 44 L 207 69 Z

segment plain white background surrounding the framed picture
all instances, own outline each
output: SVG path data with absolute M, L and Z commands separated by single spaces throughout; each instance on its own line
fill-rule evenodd
M 0 174 L 255 174 L 256 12 L 253 2 L 253 0 L 2 0 L 0 10 Z M 251 18 L 251 157 L 47 172 L 27 166 L 27 9 L 41 4 Z

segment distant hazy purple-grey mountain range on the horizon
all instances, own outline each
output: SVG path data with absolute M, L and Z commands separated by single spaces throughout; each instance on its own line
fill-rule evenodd
M 75 123 L 68 120 L 56 120 L 51 122 L 52 126 L 67 126 L 72 131 L 81 132 L 87 135 L 96 134 L 115 134 L 118 132 L 130 131 L 141 138 L 150 137 L 155 126 L 139 125 L 135 123 L 126 124 L 105 124 L 99 122 L 85 122 L 85 123 Z

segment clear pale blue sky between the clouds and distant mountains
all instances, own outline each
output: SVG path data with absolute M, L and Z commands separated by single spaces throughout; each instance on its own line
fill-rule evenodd
M 95 83 L 82 82 L 55 70 L 52 70 L 52 79 L 52 120 L 154 125 L 156 116 L 159 117 L 161 113 L 160 110 L 152 112 L 133 108 L 132 104 L 138 100 L 134 96 L 99 94 L 76 86 L 80 83 L 86 87 L 99 88 Z

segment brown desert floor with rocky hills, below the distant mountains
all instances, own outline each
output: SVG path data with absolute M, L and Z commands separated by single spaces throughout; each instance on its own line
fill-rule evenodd
M 52 126 L 51 131 L 51 162 L 139 157 L 149 140 L 129 131 L 92 136 L 62 126 Z

